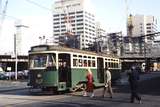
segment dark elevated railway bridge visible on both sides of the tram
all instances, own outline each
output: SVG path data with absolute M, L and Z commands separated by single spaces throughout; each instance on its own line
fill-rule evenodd
M 159 54 L 159 53 L 158 53 Z M 159 70 L 160 71 L 160 55 L 153 54 L 124 54 L 120 57 L 122 62 L 122 71 L 128 70 L 132 64 L 138 64 L 146 70 Z M 19 55 L 17 58 L 18 61 L 18 71 L 28 69 L 28 55 Z M 15 70 L 16 59 L 11 55 L 0 55 L 0 67 L 3 70 L 7 70 L 7 67 L 11 67 L 11 70 Z M 146 66 L 145 66 L 146 65 Z

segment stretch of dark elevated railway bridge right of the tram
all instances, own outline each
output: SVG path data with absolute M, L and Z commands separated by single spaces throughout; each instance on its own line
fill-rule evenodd
M 138 64 L 144 71 L 160 71 L 160 53 L 158 54 L 125 54 L 120 57 L 122 70 L 128 70 L 133 64 Z

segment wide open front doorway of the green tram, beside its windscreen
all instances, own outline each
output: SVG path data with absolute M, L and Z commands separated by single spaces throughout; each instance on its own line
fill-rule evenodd
M 69 54 L 59 54 L 58 64 L 59 64 L 59 82 L 66 82 L 67 86 L 71 85 L 71 64 L 70 64 Z

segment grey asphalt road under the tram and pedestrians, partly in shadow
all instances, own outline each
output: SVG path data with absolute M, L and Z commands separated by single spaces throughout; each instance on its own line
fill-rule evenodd
M 141 81 L 139 92 L 142 104 L 130 103 L 128 85 L 113 86 L 114 96 L 102 98 L 102 88 L 95 90 L 95 97 L 83 97 L 82 92 L 49 95 L 31 94 L 27 89 L 0 93 L 0 107 L 160 107 L 160 77 Z

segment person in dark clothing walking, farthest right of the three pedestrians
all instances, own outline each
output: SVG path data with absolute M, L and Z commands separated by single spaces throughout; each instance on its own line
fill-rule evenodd
M 130 102 L 134 103 L 135 99 L 141 103 L 141 97 L 138 95 L 138 80 L 139 72 L 136 69 L 136 66 L 132 66 L 131 70 L 128 72 L 128 81 L 131 89 L 131 98 Z

